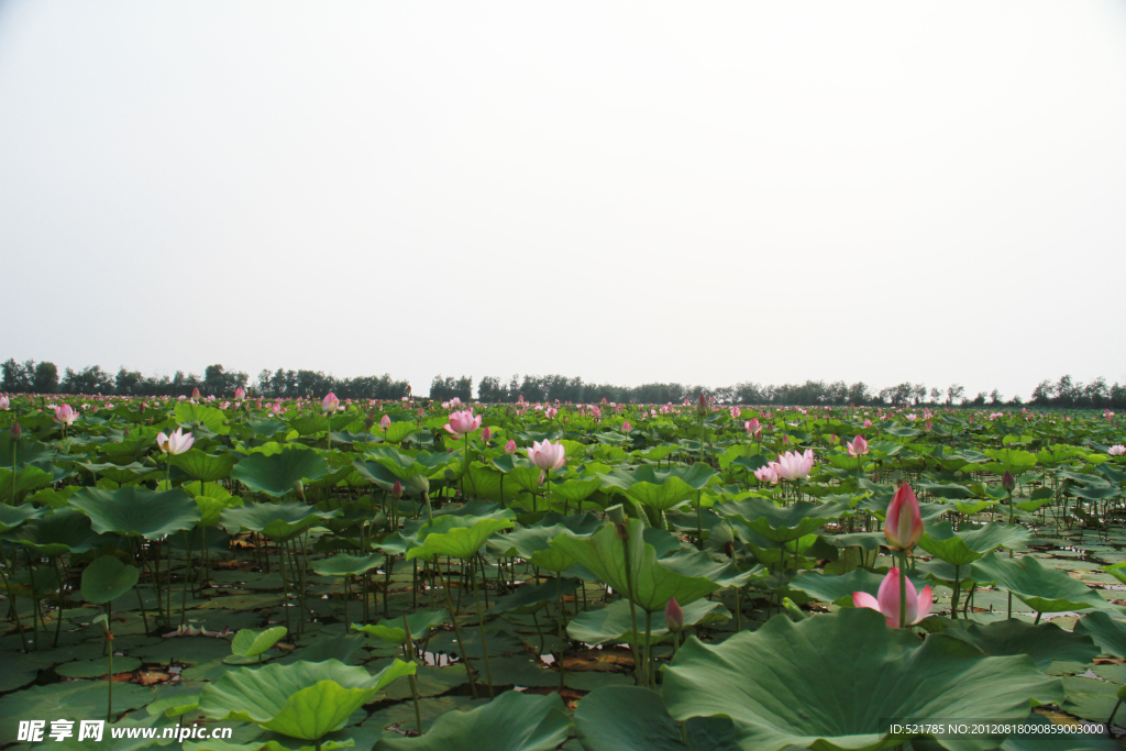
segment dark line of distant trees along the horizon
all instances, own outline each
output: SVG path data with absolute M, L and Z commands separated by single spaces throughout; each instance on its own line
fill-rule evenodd
M 53 363 L 15 359 L 0 365 L 0 392 L 36 394 L 114 394 L 119 396 L 190 396 L 198 388 L 204 396 L 231 397 L 235 388 L 247 388 L 251 396 L 295 399 L 323 396 L 330 391 L 340 399 L 392 400 L 411 395 L 406 381 L 390 375 L 337 378 L 321 370 L 265 369 L 254 384 L 245 373 L 227 370 L 222 365 L 208 365 L 200 377 L 177 370 L 173 376 L 145 376 L 122 367 L 116 375 L 91 365 L 74 370 L 66 368 L 62 375 Z M 474 397 L 472 376 L 437 375 L 430 382 L 430 399 L 447 401 L 453 397 L 468 402 Z M 485 376 L 476 387 L 476 399 L 486 403 L 516 402 L 521 396 L 528 402 L 608 402 L 635 404 L 678 403 L 696 399 L 700 393 L 727 404 L 777 404 L 812 406 L 816 404 L 841 406 L 867 405 L 922 405 L 945 404 L 966 406 L 1019 406 L 1019 395 L 1004 400 L 999 390 L 966 394 L 964 386 L 950 384 L 945 388 L 928 388 L 924 384 L 901 383 L 876 390 L 863 381 L 847 384 L 843 381 L 806 381 L 799 384 L 760 384 L 744 381 L 733 386 L 708 387 L 680 383 L 649 383 L 640 386 L 587 383 L 580 377 L 562 375 L 513 375 L 508 381 Z M 1083 384 L 1070 375 L 1056 381 L 1042 381 L 1033 390 L 1029 404 L 1066 409 L 1124 409 L 1126 385 L 1108 384 L 1099 377 Z

